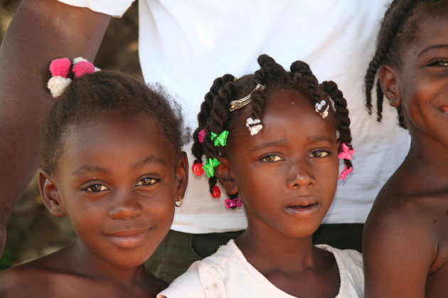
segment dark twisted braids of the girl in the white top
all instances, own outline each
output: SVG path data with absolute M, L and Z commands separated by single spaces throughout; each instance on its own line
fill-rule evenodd
M 257 84 L 264 85 L 269 91 L 275 89 L 297 90 L 306 95 L 313 106 L 324 100 L 326 104 L 321 108 L 321 111 L 329 107 L 329 117 L 326 118 L 326 121 L 334 123 L 339 133 L 338 140 L 341 143 L 348 144 L 351 148 L 347 101 L 343 98 L 343 94 L 336 83 L 329 81 L 319 84 L 309 65 L 302 61 L 292 63 L 289 72 L 268 55 L 260 55 L 258 63 L 260 70 L 252 75 L 245 75 L 239 79 L 236 79 L 233 75 L 224 75 L 213 82 L 210 91 L 201 104 L 201 111 L 198 114 L 198 128 L 193 133 L 192 153 L 196 158 L 194 163 L 202 163 L 204 155 L 206 158 L 214 158 L 220 155 L 218 147 L 215 147 L 213 141 L 210 140 L 210 132 L 220 133 L 224 130 L 240 129 L 238 128 L 240 125 L 235 126 L 235 123 L 240 123 L 239 118 L 242 114 L 239 111 L 229 110 L 230 101 L 247 96 Z M 250 113 L 253 119 L 260 118 L 260 114 L 262 114 L 266 100 L 265 94 L 267 94 L 267 91 L 258 90 L 253 92 L 250 97 L 251 101 L 248 106 L 251 109 Z M 333 110 L 331 101 L 334 102 L 336 111 Z M 206 136 L 203 138 L 203 143 L 200 143 L 198 133 L 203 128 Z M 344 160 L 344 162 L 347 167 L 353 166 L 351 160 Z M 216 177 L 209 178 L 210 193 L 213 193 L 216 182 Z

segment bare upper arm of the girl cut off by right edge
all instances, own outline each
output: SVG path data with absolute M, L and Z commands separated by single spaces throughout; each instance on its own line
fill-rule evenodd
M 363 234 L 365 297 L 424 298 L 434 259 L 430 221 L 414 204 L 377 203 Z

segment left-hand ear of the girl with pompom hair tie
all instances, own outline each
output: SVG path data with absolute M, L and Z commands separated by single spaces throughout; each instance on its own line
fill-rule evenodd
M 53 177 L 50 177 L 46 172 L 40 170 L 38 174 L 38 186 L 43 204 L 45 204 L 48 211 L 50 211 L 50 214 L 57 217 L 65 216 L 67 213 L 65 212 L 63 202 L 60 199 L 58 185 Z

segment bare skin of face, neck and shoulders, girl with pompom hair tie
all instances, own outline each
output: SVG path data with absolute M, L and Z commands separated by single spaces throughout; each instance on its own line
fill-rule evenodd
M 39 187 L 50 213 L 70 216 L 78 237 L 1 272 L 1 297 L 155 297 L 168 286 L 143 264 L 169 231 L 188 161 L 160 129 L 133 115 L 65 131 L 58 169 L 40 172 Z

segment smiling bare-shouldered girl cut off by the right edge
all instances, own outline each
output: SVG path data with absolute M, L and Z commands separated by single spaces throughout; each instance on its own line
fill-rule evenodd
M 366 74 L 412 138 L 363 238 L 366 297 L 448 295 L 448 1 L 393 1 Z M 380 162 L 380 161 L 378 161 Z

